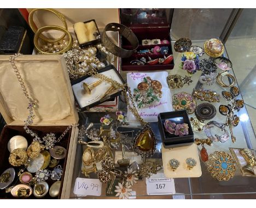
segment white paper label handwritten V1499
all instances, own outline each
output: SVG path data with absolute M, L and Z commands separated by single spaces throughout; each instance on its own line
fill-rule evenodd
M 85 197 L 86 195 L 101 195 L 102 183 L 98 179 L 75 179 L 74 194 L 79 197 Z

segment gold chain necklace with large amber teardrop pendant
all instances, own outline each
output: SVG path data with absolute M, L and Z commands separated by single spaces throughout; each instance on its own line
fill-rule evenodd
M 155 145 L 156 145 L 155 134 L 152 131 L 149 124 L 147 122 L 145 122 L 139 115 L 137 108 L 135 106 L 135 102 L 132 97 L 131 89 L 127 85 L 127 83 L 120 84 L 117 81 L 113 80 L 112 78 L 108 78 L 105 75 L 98 74 L 96 69 L 92 69 L 91 71 L 87 72 L 87 74 L 90 76 L 94 76 L 96 78 L 100 78 L 103 81 L 106 81 L 106 82 L 112 84 L 112 86 L 115 89 L 123 90 L 123 94 L 124 94 L 127 106 L 131 110 L 132 114 L 135 115 L 135 117 L 138 119 L 139 123 L 143 126 L 143 129 L 141 131 L 139 131 L 135 136 L 135 140 L 133 141 L 133 151 L 135 151 L 138 155 L 141 155 L 142 157 L 154 155 Z M 127 95 L 127 92 L 129 93 L 132 106 L 129 102 L 129 97 Z

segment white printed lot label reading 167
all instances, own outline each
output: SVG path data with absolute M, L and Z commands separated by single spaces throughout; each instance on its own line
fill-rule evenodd
M 174 180 L 169 178 L 147 179 L 148 195 L 170 195 L 175 194 Z

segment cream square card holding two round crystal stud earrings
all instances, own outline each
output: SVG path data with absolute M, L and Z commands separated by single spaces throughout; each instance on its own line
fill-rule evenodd
M 186 159 L 189 157 L 196 161 L 196 166 L 191 168 L 191 170 L 188 169 L 186 164 Z M 175 171 L 172 171 L 169 164 L 169 161 L 173 158 L 181 163 Z M 197 178 L 202 175 L 199 154 L 195 143 L 170 149 L 166 149 L 162 145 L 162 166 L 166 178 Z

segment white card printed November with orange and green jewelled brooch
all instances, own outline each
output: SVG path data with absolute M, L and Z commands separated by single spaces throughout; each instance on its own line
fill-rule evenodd
M 127 84 L 131 88 L 139 115 L 144 121 L 158 121 L 159 113 L 173 111 L 167 76 L 167 71 L 127 73 Z M 136 121 L 130 109 L 127 119 L 131 122 Z

